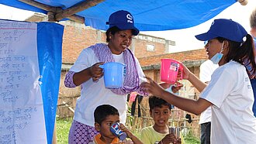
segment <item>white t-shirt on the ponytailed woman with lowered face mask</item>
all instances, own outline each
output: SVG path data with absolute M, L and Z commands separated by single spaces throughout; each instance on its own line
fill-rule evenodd
M 217 68 L 201 98 L 213 104 L 211 143 L 256 143 L 254 95 L 243 65 L 230 61 Z

